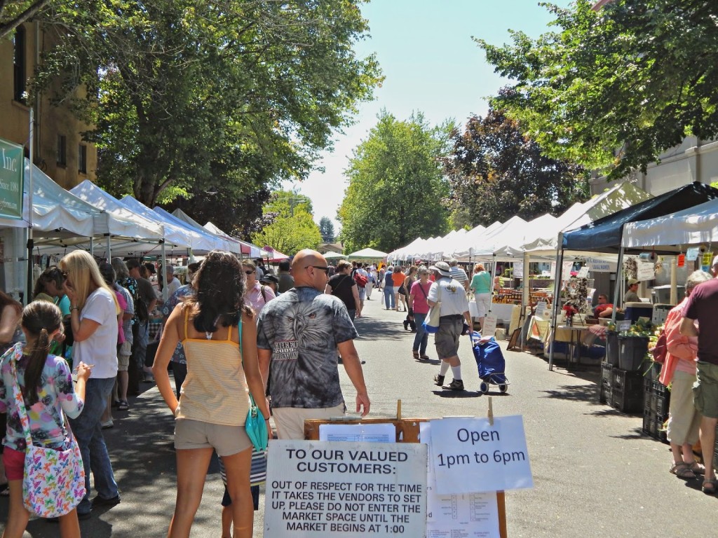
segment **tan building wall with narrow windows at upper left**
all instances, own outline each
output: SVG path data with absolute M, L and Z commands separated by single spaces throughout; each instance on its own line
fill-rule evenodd
M 51 39 L 39 32 L 34 23 L 23 25 L 25 32 L 24 72 L 29 80 L 42 47 L 49 47 Z M 39 32 L 39 33 L 38 33 Z M 30 109 L 14 98 L 14 42 L 0 40 L 0 138 L 24 145 L 29 139 Z M 82 141 L 80 133 L 88 126 L 74 118 L 70 110 L 50 105 L 42 95 L 35 105 L 34 163 L 65 189 L 71 189 L 85 179 L 95 181 L 97 149 Z M 65 162 L 59 162 L 59 136 L 65 137 Z M 85 146 L 86 167 L 80 171 L 80 146 Z

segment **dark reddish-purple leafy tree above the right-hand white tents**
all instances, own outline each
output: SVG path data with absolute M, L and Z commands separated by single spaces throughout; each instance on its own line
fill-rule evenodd
M 531 220 L 560 214 L 587 199 L 584 169 L 544 156 L 500 110 L 490 108 L 485 118 L 469 118 L 463 132 L 454 130 L 452 142 L 444 165 L 454 227 L 488 226 L 514 215 Z

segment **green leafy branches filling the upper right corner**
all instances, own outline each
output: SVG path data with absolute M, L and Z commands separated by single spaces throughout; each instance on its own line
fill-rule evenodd
M 718 4 L 713 0 L 544 4 L 556 32 L 477 40 L 516 81 L 498 108 L 551 156 L 610 176 L 643 169 L 688 135 L 718 136 Z

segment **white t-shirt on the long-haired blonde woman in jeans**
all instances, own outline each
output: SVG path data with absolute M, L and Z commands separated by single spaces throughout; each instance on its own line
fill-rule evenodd
M 90 293 L 85 308 L 80 312 L 83 319 L 97 321 L 100 326 L 88 338 L 75 341 L 73 362 L 94 364 L 90 379 L 107 379 L 117 375 L 117 310 L 115 300 L 105 288 Z

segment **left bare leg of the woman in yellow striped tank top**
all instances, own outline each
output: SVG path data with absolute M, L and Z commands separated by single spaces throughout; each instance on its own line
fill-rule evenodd
M 177 450 L 177 501 L 168 538 L 190 538 L 192 522 L 202 501 L 205 477 L 214 448 Z M 249 488 L 247 488 L 249 491 Z

